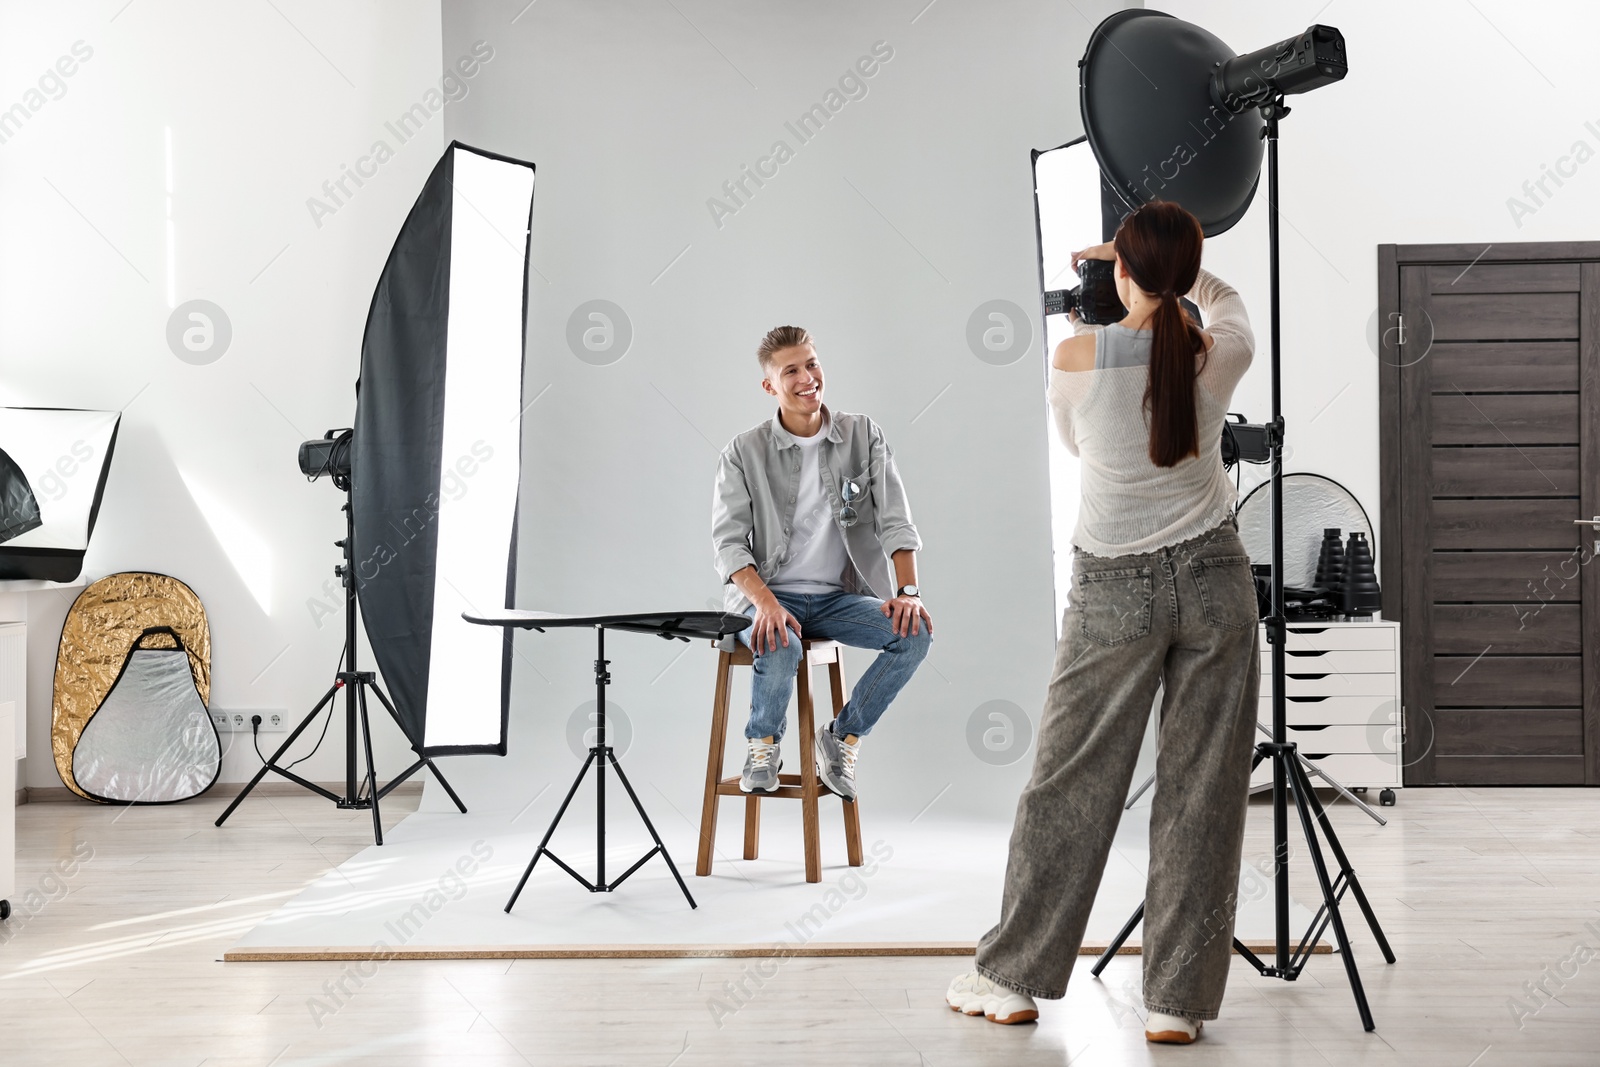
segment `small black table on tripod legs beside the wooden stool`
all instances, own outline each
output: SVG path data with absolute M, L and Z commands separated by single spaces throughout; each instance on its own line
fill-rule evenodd
M 629 613 L 629 614 L 558 614 L 554 611 L 522 611 L 517 608 L 504 608 L 499 611 L 485 613 L 461 613 L 461 617 L 467 622 L 475 622 L 478 625 L 501 625 L 501 627 L 517 627 L 523 630 L 554 630 L 563 627 L 594 627 L 595 632 L 595 742 L 589 747 L 589 758 L 584 760 L 582 769 L 578 771 L 578 777 L 573 779 L 573 787 L 566 790 L 566 800 L 557 809 L 555 817 L 550 821 L 550 829 L 544 832 L 544 840 L 539 841 L 539 848 L 533 853 L 533 859 L 528 861 L 528 869 L 522 872 L 522 880 L 512 891 L 510 899 L 506 901 L 506 912 L 509 913 L 512 905 L 517 904 L 517 897 L 522 896 L 522 888 L 528 885 L 528 877 L 533 873 L 534 864 L 539 862 L 541 856 L 549 856 L 550 861 L 578 880 L 581 886 L 590 893 L 611 893 L 619 885 L 622 885 L 630 873 L 643 867 L 650 857 L 661 853 L 661 857 L 667 861 L 667 869 L 672 877 L 677 878 L 678 888 L 683 889 L 683 899 L 690 902 L 690 907 L 699 907 L 694 904 L 694 897 L 690 896 L 690 888 L 683 883 L 683 875 L 678 873 L 677 864 L 672 862 L 672 856 L 667 854 L 667 846 L 662 845 L 661 835 L 656 833 L 654 824 L 650 822 L 650 816 L 645 814 L 645 805 L 638 801 L 638 793 L 627 781 L 627 774 L 622 773 L 622 765 L 616 761 L 616 753 L 605 739 L 605 688 L 611 685 L 611 672 L 606 670 L 610 659 L 605 657 L 605 632 L 606 630 L 624 630 L 629 633 L 654 633 L 656 637 L 666 640 L 686 641 L 690 638 L 710 638 L 720 640 L 730 633 L 738 633 L 744 627 L 750 625 L 749 616 L 733 614 L 728 611 L 646 611 L 646 613 Z M 624 870 L 614 881 L 605 880 L 605 765 L 610 763 L 616 771 L 618 781 L 622 782 L 622 789 L 627 790 L 627 798 L 634 801 L 634 808 L 638 811 L 638 817 L 645 821 L 645 829 L 650 830 L 651 840 L 656 846 L 638 857 L 632 867 Z M 549 849 L 550 837 L 555 833 L 555 827 L 562 822 L 562 816 L 566 814 L 566 806 L 573 803 L 573 797 L 578 793 L 578 787 L 584 781 L 584 774 L 589 768 L 595 768 L 595 880 L 589 881 L 581 873 L 566 865 L 560 856 Z

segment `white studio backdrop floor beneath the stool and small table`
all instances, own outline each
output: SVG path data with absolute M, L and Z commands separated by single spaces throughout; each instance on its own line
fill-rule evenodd
M 621 793 L 621 790 L 614 790 Z M 1147 798 L 1125 813 L 1085 944 L 1104 947 L 1142 899 Z M 741 857 L 742 805 L 728 798 L 712 873 L 694 877 L 698 827 L 666 805 L 651 811 L 699 904 L 691 910 L 661 857 L 610 894 L 584 889 L 547 857 L 510 915 L 502 909 L 538 848 L 552 806 L 523 813 L 438 811 L 437 797 L 285 902 L 227 960 L 546 955 L 797 955 L 971 952 L 1000 913 L 1010 825 L 934 817 L 864 817 L 864 865 L 845 864 L 840 801 L 822 801 L 822 881 L 806 883 L 798 805 L 763 805 L 762 857 Z M 646 803 L 646 808 L 650 805 Z M 650 838 L 627 803 L 610 805 L 606 877 L 627 870 Z M 573 801 L 550 848 L 595 877 L 592 790 Z M 1269 880 L 1242 869 L 1237 934 L 1270 941 Z M 1262 857 L 1254 857 L 1262 862 Z M 466 872 L 466 873 L 464 873 Z M 1254 886 L 1254 891 L 1251 891 Z M 1294 926 L 1310 915 L 1294 907 Z M 1130 945 L 1138 944 L 1134 931 Z M 374 952 L 376 950 L 376 952 Z

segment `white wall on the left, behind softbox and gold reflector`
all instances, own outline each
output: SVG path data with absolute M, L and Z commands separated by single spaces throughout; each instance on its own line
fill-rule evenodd
M 75 42 L 91 56 L 29 96 Z M 437 0 L 0 5 L 0 109 L 38 104 L 0 142 L 0 403 L 125 410 L 85 576 L 187 581 L 211 616 L 218 707 L 298 717 L 331 683 L 341 494 L 306 485 L 294 451 L 354 414 L 373 285 L 445 144 L 442 115 L 403 146 L 384 122 L 442 62 Z M 318 226 L 307 198 L 378 139 L 394 157 Z M 214 363 L 166 346 L 170 269 L 176 302 L 232 323 Z M 46 600 L 30 614 L 34 787 L 59 787 L 50 686 L 70 597 Z M 403 766 L 398 731 L 376 733 L 382 768 Z M 240 749 L 227 779 L 254 766 L 248 736 Z M 336 721 L 301 769 L 338 779 L 341 752 Z

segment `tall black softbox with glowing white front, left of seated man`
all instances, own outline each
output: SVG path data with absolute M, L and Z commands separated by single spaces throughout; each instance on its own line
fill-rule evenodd
M 373 293 L 350 451 L 354 579 L 426 755 L 506 753 L 533 163 L 451 142 Z

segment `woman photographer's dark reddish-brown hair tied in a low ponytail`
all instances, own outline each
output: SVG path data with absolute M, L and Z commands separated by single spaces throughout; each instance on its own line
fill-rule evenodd
M 1205 338 L 1178 298 L 1200 274 L 1200 221 L 1168 200 L 1146 203 L 1117 227 L 1114 245 L 1128 278 L 1160 298 L 1150 318 L 1150 376 L 1144 406 L 1150 413 L 1150 462 L 1176 467 L 1200 454 L 1195 378 L 1205 366 Z

